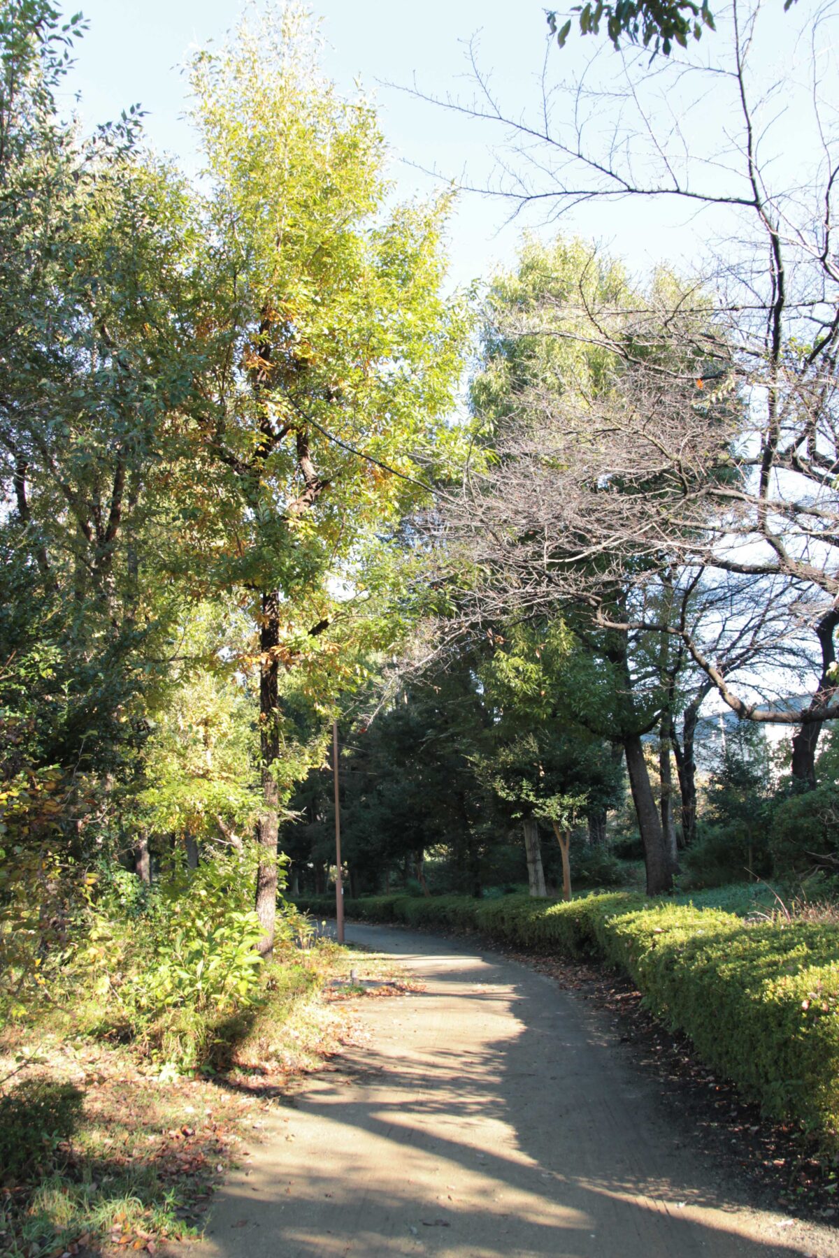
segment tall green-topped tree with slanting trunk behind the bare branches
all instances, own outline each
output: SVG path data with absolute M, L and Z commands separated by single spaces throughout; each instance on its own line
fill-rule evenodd
M 658 287 L 672 284 L 663 277 Z M 569 302 L 576 320 L 566 328 L 557 314 Z M 659 662 L 636 669 L 626 621 L 639 616 L 639 599 L 658 598 L 663 566 L 660 555 L 650 559 L 647 537 L 633 537 L 635 511 L 640 501 L 665 499 L 668 488 L 655 463 L 639 460 L 633 448 L 649 434 L 636 438 L 623 414 L 624 364 L 595 313 L 604 302 L 620 311 L 611 325 L 615 346 L 629 341 L 634 352 L 654 355 L 655 346 L 642 343 L 634 331 L 638 298 L 621 269 L 579 242 L 526 243 L 517 273 L 498 279 L 483 369 L 473 385 L 473 406 L 492 431 L 492 454 L 459 497 L 449 496 L 443 533 L 452 579 L 460 569 L 468 574 L 458 599 L 463 626 L 562 616 L 577 660 L 587 657 L 581 693 L 597 698 L 582 699 L 585 712 L 576 717 L 597 736 L 611 733 L 623 743 L 648 889 L 658 893 L 670 886 L 670 858 L 640 740 L 657 723 L 664 693 Z M 609 420 L 599 420 L 600 408 Z M 591 499 L 595 511 L 603 499 L 603 511 L 623 522 L 609 547 L 596 536 L 592 543 Z M 633 633 L 644 638 L 643 615 Z

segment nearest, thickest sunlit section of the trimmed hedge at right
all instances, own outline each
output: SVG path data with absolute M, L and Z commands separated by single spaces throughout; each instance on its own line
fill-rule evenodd
M 667 905 L 603 932 L 606 955 L 699 1055 L 774 1117 L 839 1131 L 835 928 Z

